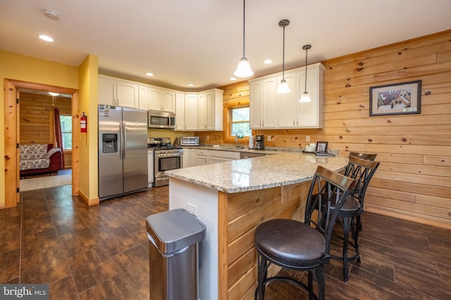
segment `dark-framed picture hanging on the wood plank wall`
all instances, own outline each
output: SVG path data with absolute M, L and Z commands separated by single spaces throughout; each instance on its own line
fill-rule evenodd
M 369 116 L 421 113 L 421 80 L 369 88 Z

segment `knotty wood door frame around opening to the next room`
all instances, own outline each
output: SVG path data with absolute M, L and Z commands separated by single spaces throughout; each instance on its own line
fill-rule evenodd
M 32 82 L 4 79 L 5 105 L 5 208 L 15 207 L 20 200 L 19 175 L 19 119 L 20 99 L 19 89 L 36 91 L 55 91 L 72 96 L 72 195 L 78 195 L 78 90 L 61 86 L 35 84 Z

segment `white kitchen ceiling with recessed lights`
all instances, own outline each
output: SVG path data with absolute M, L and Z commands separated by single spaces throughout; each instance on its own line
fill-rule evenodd
M 242 0 L 0 0 L 0 48 L 74 66 L 91 53 L 102 74 L 200 91 L 232 83 L 242 57 L 242 7 Z M 246 57 L 254 77 L 282 70 L 282 19 L 290 20 L 290 69 L 304 65 L 304 44 L 312 45 L 309 63 L 316 63 L 449 30 L 451 1 L 247 0 Z M 273 64 L 264 65 L 266 58 Z

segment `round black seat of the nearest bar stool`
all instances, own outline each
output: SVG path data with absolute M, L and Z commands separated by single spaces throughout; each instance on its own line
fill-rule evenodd
M 326 238 L 306 223 L 274 219 L 257 226 L 255 244 L 259 252 L 278 265 L 303 268 L 319 264 L 326 249 Z

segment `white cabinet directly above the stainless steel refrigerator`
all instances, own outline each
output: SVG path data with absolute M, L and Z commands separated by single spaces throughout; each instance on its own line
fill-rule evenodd
M 99 75 L 99 104 L 138 107 L 138 85 L 133 81 Z

